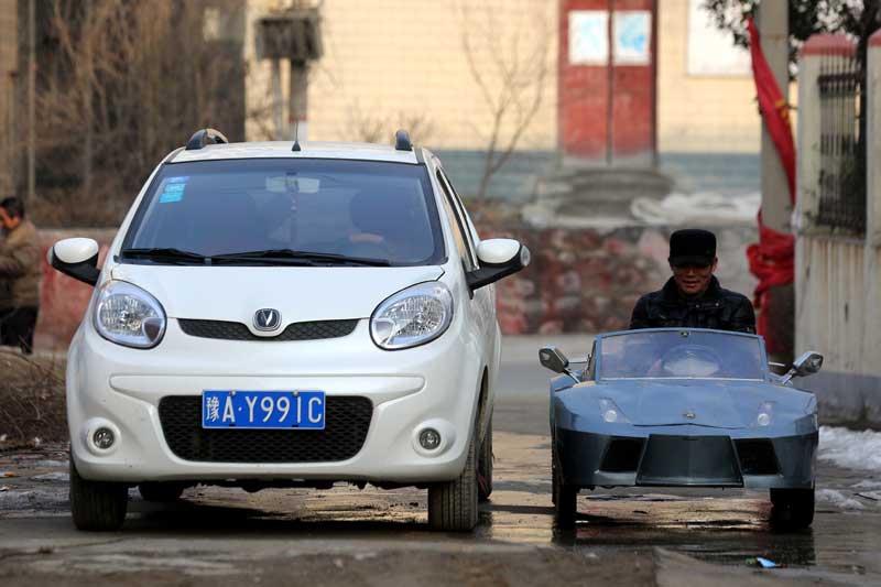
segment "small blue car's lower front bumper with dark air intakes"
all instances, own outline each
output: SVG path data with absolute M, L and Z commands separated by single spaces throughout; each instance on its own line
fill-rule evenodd
M 564 482 L 581 488 L 811 488 L 818 441 L 817 432 L 761 438 L 698 426 L 641 436 L 557 428 L 554 436 Z

